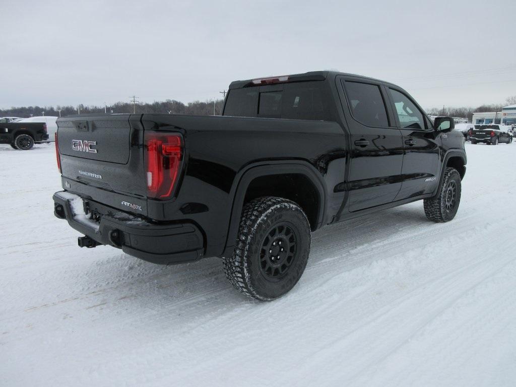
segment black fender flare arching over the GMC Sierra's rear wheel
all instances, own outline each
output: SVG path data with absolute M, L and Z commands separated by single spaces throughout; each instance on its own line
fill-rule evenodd
M 317 211 L 317 222 L 316 228 L 320 227 L 322 219 L 324 218 L 324 210 L 326 205 L 326 186 L 321 174 L 315 169 L 313 165 L 302 160 L 280 160 L 278 162 L 264 162 L 256 163 L 247 166 L 245 169 L 240 171 L 235 178 L 230 195 L 232 196 L 232 208 L 231 215 L 228 225 L 228 233 L 224 245 L 224 256 L 229 256 L 233 253 L 235 247 L 236 236 L 238 233 L 238 227 L 240 225 L 240 218 L 242 209 L 244 207 L 244 199 L 246 196 L 247 189 L 251 182 L 262 176 L 266 175 L 277 175 L 296 173 L 302 174 L 307 177 L 314 187 L 316 188 L 319 196 L 319 208 Z

